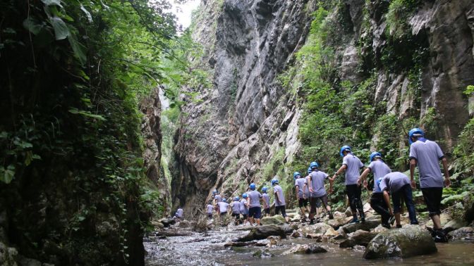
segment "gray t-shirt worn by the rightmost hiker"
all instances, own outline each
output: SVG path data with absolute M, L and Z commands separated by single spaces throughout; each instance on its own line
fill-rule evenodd
M 444 157 L 435 141 L 415 141 L 410 146 L 410 158 L 415 158 L 420 172 L 420 186 L 443 187 L 443 177 L 439 168 L 439 159 Z

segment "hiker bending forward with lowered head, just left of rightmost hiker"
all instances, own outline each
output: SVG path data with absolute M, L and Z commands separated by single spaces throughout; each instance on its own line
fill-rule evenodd
M 400 211 L 401 198 L 405 200 L 405 205 L 408 210 L 408 217 L 410 217 L 410 224 L 418 224 L 416 220 L 415 204 L 413 203 L 413 194 L 411 191 L 410 180 L 401 172 L 390 172 L 379 182 L 379 189 L 384 193 L 384 201 L 389 206 L 389 213 L 395 214 L 396 227 L 401 228 Z M 390 207 L 389 193 L 391 195 L 391 202 L 394 204 L 393 211 Z

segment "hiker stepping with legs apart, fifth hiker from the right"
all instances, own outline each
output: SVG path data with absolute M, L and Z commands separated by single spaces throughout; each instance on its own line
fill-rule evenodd
M 334 217 L 332 216 L 331 213 L 331 206 L 327 203 L 327 193 L 326 189 L 324 189 L 324 179 L 327 179 L 329 175 L 327 173 L 320 171 L 318 168 L 320 165 L 318 165 L 316 162 L 312 162 L 310 164 L 311 167 L 311 173 L 308 175 L 306 179 L 306 183 L 308 184 L 309 191 L 310 191 L 310 205 L 311 205 L 311 210 L 310 210 L 310 224 L 315 223 L 315 214 L 316 214 L 316 222 L 321 222 L 319 214 L 316 211 L 316 201 L 319 199 L 324 205 L 324 208 L 327 210 L 327 213 L 329 214 L 329 219 L 333 219 Z M 329 189 L 332 191 L 332 182 L 331 188 Z

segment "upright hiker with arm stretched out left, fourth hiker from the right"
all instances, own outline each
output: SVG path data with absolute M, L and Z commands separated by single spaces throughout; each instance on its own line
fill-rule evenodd
M 334 176 L 329 179 L 330 182 L 334 182 L 334 179 L 341 173 L 346 172 L 346 194 L 349 198 L 349 203 L 351 204 L 351 211 L 353 219 L 351 223 L 359 222 L 357 218 L 357 211 L 359 212 L 360 220 L 365 222 L 365 213 L 362 205 L 362 200 L 360 198 L 362 194 L 362 190 L 360 186 L 357 185 L 357 179 L 360 175 L 360 168 L 364 167 L 364 164 L 357 158 L 357 156 L 353 155 L 350 146 L 342 146 L 341 151 L 339 151 L 339 155 L 343 157 L 342 165 L 334 174 Z M 330 193 L 332 191 L 329 191 Z

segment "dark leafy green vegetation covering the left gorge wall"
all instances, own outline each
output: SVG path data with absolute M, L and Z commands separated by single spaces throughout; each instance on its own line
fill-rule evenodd
M 140 264 L 160 206 L 138 106 L 173 57 L 169 3 L 0 6 L 0 241 L 56 265 Z

